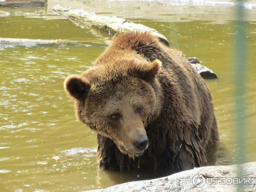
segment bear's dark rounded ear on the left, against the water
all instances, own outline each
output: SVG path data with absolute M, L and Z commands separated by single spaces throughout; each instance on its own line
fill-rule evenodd
M 64 88 L 71 97 L 81 99 L 87 95 L 90 90 L 90 84 L 80 77 L 70 76 L 65 79 Z

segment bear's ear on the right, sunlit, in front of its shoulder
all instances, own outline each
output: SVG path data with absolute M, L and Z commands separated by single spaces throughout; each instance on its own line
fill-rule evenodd
M 150 81 L 154 78 L 160 71 L 162 66 L 161 61 L 158 59 L 154 60 L 152 63 L 147 64 L 137 64 L 134 69 L 130 71 L 131 75 L 137 76 L 145 81 Z

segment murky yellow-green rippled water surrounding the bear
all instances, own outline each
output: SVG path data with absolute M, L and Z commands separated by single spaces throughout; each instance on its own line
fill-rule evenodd
M 207 80 L 221 142 L 230 151 L 219 165 L 235 163 L 237 116 L 246 122 L 246 159 L 256 160 L 256 22 L 247 22 L 246 114 L 235 113 L 234 23 L 134 20 L 157 29 L 187 56 L 196 56 L 219 79 Z M 183 21 L 183 20 L 180 20 Z M 70 39 L 77 44 L 0 47 L 0 191 L 82 191 L 147 178 L 141 172 L 97 168 L 96 135 L 75 118 L 65 77 L 87 70 L 108 46 L 69 20 L 0 17 L 0 38 Z M 227 151 L 225 153 L 228 153 Z

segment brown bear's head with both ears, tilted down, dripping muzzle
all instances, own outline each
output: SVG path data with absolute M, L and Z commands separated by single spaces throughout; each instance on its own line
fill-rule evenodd
M 160 68 L 159 60 L 112 61 L 67 77 L 64 88 L 75 99 L 77 118 L 134 158 L 148 147 L 145 128 L 158 111 Z

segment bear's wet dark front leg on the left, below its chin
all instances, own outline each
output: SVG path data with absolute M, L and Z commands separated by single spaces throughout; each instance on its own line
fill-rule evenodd
M 101 169 L 124 171 L 130 169 L 131 159 L 117 148 L 110 138 L 97 135 L 98 160 Z

